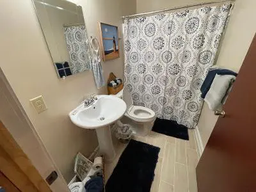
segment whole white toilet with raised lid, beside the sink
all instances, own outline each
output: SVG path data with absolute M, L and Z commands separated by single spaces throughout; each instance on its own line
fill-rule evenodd
M 127 88 L 124 87 L 122 93 L 122 99 L 126 103 L 127 109 L 121 122 L 131 125 L 133 134 L 138 136 L 148 135 L 156 120 L 155 112 L 142 106 L 134 106 L 132 95 Z M 119 97 L 121 96 L 120 94 L 118 95 Z

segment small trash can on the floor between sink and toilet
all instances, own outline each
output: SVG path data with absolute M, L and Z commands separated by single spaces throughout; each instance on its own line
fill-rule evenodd
M 129 143 L 132 136 L 132 127 L 129 124 L 122 124 L 122 122 L 118 121 L 115 124 L 115 134 L 121 143 Z

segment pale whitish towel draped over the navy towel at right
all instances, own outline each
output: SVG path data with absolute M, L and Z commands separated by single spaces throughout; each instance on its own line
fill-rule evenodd
M 225 97 L 232 79 L 236 79 L 236 77 L 231 75 L 220 76 L 216 74 L 212 81 L 211 88 L 204 99 L 208 104 L 209 109 L 215 111 L 220 107 L 221 100 Z

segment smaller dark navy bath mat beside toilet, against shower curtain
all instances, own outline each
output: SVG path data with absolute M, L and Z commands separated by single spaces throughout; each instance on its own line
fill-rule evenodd
M 152 131 L 182 140 L 189 140 L 188 127 L 177 124 L 177 122 L 172 120 L 156 118 Z

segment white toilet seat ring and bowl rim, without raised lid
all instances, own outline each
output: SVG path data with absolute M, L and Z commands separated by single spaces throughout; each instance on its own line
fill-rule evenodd
M 125 113 L 125 116 L 136 122 L 150 122 L 156 118 L 155 115 L 154 111 L 142 106 L 131 106 Z

